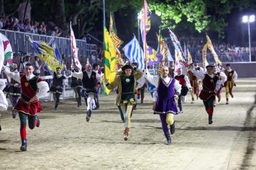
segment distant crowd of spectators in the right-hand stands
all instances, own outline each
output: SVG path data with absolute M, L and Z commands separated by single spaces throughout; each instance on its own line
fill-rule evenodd
M 186 44 L 186 47 L 189 49 L 192 58 L 197 61 L 202 62 L 202 49 L 205 45 L 205 38 L 183 38 L 180 40 L 181 44 Z M 243 62 L 249 61 L 248 53 L 249 50 L 247 47 L 236 47 L 235 45 L 230 45 L 229 43 L 218 43 L 217 41 L 212 40 L 212 45 L 216 54 L 221 61 L 224 62 Z M 251 48 L 252 55 L 255 55 L 256 48 Z M 207 60 L 209 62 L 214 62 L 211 52 L 207 50 Z

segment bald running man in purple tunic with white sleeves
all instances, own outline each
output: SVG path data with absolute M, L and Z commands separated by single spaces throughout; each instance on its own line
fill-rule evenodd
M 175 99 L 179 98 L 181 90 L 179 81 L 176 81 L 172 77 L 168 77 L 168 73 L 169 69 L 167 66 L 163 66 L 161 77 L 159 77 L 159 75 L 150 75 L 147 69 L 144 73 L 145 78 L 157 87 L 157 102 L 154 114 L 160 115 L 162 128 L 166 137 L 166 145 L 170 145 L 172 143 L 168 125 L 170 125 L 171 134 L 174 134 L 175 121 L 173 121 L 173 116 L 178 112 Z

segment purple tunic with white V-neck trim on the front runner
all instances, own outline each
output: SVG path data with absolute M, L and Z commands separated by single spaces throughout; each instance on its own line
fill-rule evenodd
M 159 78 L 154 114 L 177 114 L 178 109 L 174 100 L 174 82 L 175 79 L 171 78 L 170 82 L 166 84 L 162 78 Z

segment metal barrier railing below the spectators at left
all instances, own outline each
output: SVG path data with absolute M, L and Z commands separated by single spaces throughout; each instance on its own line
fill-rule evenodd
M 35 54 L 35 50 L 33 50 L 33 47 L 29 44 L 26 35 L 30 36 L 31 39 L 35 41 L 49 42 L 52 38 L 52 36 L 47 35 L 23 33 L 20 31 L 10 31 L 6 29 L 0 29 L 0 33 L 8 38 L 12 45 L 12 50 L 16 54 Z M 72 55 L 70 38 L 55 37 L 55 42 L 61 54 L 66 54 L 67 56 Z M 79 57 L 88 57 L 90 56 L 90 52 L 97 52 L 97 45 L 89 44 L 86 40 L 77 39 L 76 45 L 80 49 L 78 53 Z

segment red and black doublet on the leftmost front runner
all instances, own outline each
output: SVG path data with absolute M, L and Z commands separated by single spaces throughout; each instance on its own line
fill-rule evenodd
M 38 100 L 29 102 L 31 98 L 35 97 L 36 92 L 38 91 L 37 82 L 43 81 L 41 78 L 35 76 L 29 81 L 26 79 L 24 73 L 20 73 L 20 89 L 21 97 L 14 107 L 14 110 L 17 112 L 24 112 L 30 115 L 36 115 L 38 112 L 42 111 L 41 104 Z

